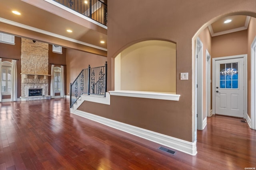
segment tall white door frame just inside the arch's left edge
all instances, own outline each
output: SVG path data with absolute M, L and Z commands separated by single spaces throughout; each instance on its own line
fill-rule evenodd
M 196 118 L 197 129 L 203 130 L 203 43 L 199 37 L 196 39 Z

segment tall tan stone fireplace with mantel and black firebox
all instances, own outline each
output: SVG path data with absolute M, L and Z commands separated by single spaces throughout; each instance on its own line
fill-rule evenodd
M 21 39 L 21 100 L 49 99 L 48 44 Z M 30 89 L 42 89 L 42 94 L 30 96 Z M 36 92 L 36 91 L 35 91 Z

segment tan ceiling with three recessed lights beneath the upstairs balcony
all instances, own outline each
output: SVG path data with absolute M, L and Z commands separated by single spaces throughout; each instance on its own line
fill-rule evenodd
M 87 20 L 58 6 L 45 0 L 6 0 L 1 3 L 0 22 L 107 51 L 106 26 L 92 23 L 85 16 L 81 15 Z M 12 10 L 20 12 L 21 15 L 13 14 Z M 67 29 L 73 32 L 68 33 Z

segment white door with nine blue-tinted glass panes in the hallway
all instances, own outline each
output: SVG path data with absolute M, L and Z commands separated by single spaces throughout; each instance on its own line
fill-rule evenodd
M 215 63 L 215 113 L 244 117 L 244 59 Z

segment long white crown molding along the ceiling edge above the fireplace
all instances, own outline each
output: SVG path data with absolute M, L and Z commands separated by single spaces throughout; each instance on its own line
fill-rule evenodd
M 14 26 L 17 26 L 17 27 L 21 27 L 21 28 L 24 28 L 24 29 L 28 29 L 28 30 L 30 30 L 30 31 L 35 31 L 35 32 L 38 32 L 38 33 L 42 33 L 42 34 L 45 34 L 45 35 L 49 35 L 49 36 L 52 36 L 52 37 L 64 39 L 64 40 L 66 40 L 66 41 L 70 41 L 70 42 L 73 42 L 73 43 L 78 43 L 78 44 L 86 45 L 86 46 L 88 46 L 88 47 L 92 47 L 92 48 L 95 48 L 95 49 L 100 49 L 100 50 L 103 50 L 103 51 L 108 51 L 107 49 L 102 48 L 102 47 L 99 47 L 99 46 L 96 46 L 96 45 L 92 45 L 92 44 L 89 44 L 89 43 L 85 43 L 85 42 L 82 42 L 82 41 L 78 41 L 78 40 L 76 40 L 76 39 L 64 37 L 64 36 L 62 36 L 62 35 L 58 35 L 58 34 L 55 34 L 55 33 L 51 33 L 51 32 L 48 32 L 48 31 L 44 31 L 44 30 L 42 30 L 42 29 L 38 29 L 38 28 L 35 28 L 35 27 L 30 27 L 30 26 L 24 25 L 24 24 L 22 24 L 22 23 L 18 23 L 18 22 L 6 20 L 6 19 L 4 19 L 4 18 L 0 18 L 0 22 L 7 23 L 7 24 L 10 24 L 10 25 L 14 25 Z

